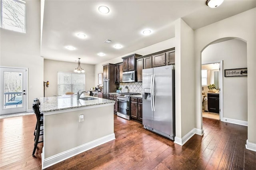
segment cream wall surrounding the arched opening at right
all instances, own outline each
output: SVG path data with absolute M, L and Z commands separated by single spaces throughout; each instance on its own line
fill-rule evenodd
M 248 68 L 248 142 L 256 144 L 256 8 L 226 18 L 195 30 L 195 69 L 196 69 L 196 125 L 202 126 L 201 111 L 201 51 L 210 43 L 226 37 L 237 37 L 247 42 Z

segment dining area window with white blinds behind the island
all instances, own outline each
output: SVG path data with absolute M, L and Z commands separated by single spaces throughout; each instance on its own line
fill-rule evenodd
M 85 74 L 58 72 L 58 95 L 68 91 L 77 93 L 85 90 Z

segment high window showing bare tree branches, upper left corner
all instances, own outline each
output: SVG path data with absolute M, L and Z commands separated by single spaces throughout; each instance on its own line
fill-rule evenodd
M 1 28 L 16 32 L 26 32 L 26 2 L 22 0 L 0 0 Z

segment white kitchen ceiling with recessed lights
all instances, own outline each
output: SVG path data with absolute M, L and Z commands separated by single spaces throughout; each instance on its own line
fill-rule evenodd
M 44 59 L 97 64 L 175 37 L 174 21 L 192 29 L 256 7 L 256 0 L 224 0 L 217 8 L 206 0 L 45 0 L 41 55 Z M 102 14 L 99 6 L 108 6 Z M 245 18 L 246 19 L 246 18 Z M 142 30 L 150 29 L 145 36 Z M 76 35 L 84 33 L 86 38 Z M 104 42 L 112 40 L 111 43 Z M 115 49 L 121 44 L 121 49 Z M 74 50 L 66 46 L 75 47 Z M 171 47 L 170 47 L 171 48 Z M 97 54 L 103 52 L 105 56 Z

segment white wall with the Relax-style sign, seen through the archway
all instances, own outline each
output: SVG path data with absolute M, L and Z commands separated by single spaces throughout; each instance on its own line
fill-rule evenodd
M 209 45 L 202 52 L 202 63 L 223 60 L 223 117 L 247 121 L 247 76 L 224 77 L 224 69 L 246 68 L 247 48 L 242 40 Z

